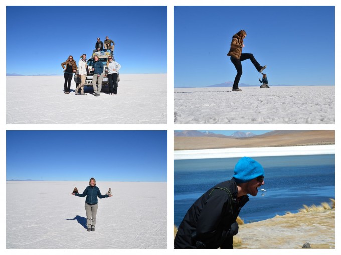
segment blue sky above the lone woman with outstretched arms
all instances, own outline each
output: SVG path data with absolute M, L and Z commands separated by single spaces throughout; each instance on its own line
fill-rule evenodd
M 7 131 L 6 179 L 167 181 L 166 131 Z

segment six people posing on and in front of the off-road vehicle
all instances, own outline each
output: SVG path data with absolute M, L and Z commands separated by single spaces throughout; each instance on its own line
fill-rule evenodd
M 112 45 L 111 45 L 112 43 Z M 100 96 L 101 95 L 101 89 L 102 89 L 102 80 L 104 75 L 108 77 L 109 82 L 109 95 L 116 95 L 117 94 L 117 78 L 118 78 L 118 70 L 121 68 L 121 65 L 117 63 L 113 57 L 113 51 L 115 47 L 115 43 L 109 39 L 109 37 L 106 37 L 106 40 L 103 42 L 100 40 L 100 38 L 97 38 L 97 42 L 95 45 L 96 51 L 102 51 L 103 45 L 105 49 L 109 49 L 111 51 L 111 55 L 109 55 L 106 66 L 108 69 L 108 73 L 104 74 L 104 65 L 100 61 L 98 55 L 94 55 L 94 62 L 92 65 L 92 71 L 93 79 L 92 79 L 92 85 L 94 89 L 94 95 Z M 83 54 L 81 56 L 81 59 L 78 62 L 78 67 L 76 64 L 76 61 L 74 60 L 73 56 L 70 55 L 68 59 L 62 63 L 62 68 L 64 69 L 64 94 L 70 93 L 70 87 L 71 87 L 71 80 L 73 77 L 73 74 L 76 73 L 78 70 L 78 76 L 80 77 L 80 83 L 75 88 L 75 94 L 76 95 L 87 95 L 84 93 L 84 84 L 86 81 L 86 76 L 90 73 L 88 65 L 87 65 L 87 59 L 86 54 Z M 97 84 L 96 84 L 97 83 Z M 79 91 L 80 90 L 80 91 Z

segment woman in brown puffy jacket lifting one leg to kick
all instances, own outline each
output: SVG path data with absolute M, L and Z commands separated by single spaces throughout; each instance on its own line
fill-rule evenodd
M 236 67 L 237 75 L 235 77 L 235 80 L 233 82 L 232 91 L 242 91 L 238 87 L 238 83 L 240 80 L 240 77 L 242 76 L 243 69 L 242 69 L 242 63 L 241 61 L 244 61 L 246 59 L 250 59 L 253 65 L 256 67 L 257 71 L 262 73 L 262 71 L 266 68 L 266 65 L 261 66 L 256 59 L 254 58 L 253 54 L 249 53 L 242 53 L 244 45 L 244 39 L 246 37 L 246 32 L 244 30 L 240 30 L 238 33 L 233 35 L 232 42 L 231 42 L 231 48 L 229 53 L 227 53 L 228 56 L 230 56 L 230 60 L 233 63 L 233 65 Z

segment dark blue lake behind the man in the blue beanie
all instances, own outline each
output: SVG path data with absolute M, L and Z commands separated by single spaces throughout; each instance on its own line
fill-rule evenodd
M 335 198 L 335 155 L 254 157 L 265 170 L 257 196 L 239 216 L 248 223 L 298 212 L 305 205 L 320 205 Z M 174 161 L 174 224 L 179 226 L 187 210 L 203 193 L 230 180 L 239 158 Z

